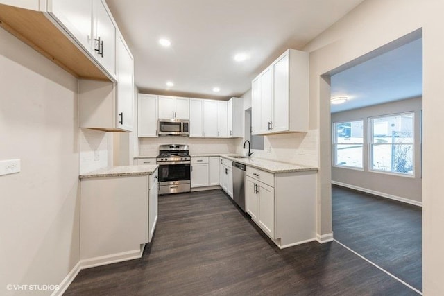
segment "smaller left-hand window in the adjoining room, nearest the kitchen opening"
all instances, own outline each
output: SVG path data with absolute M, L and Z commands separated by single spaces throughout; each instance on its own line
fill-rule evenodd
M 334 123 L 334 166 L 363 168 L 363 123 L 361 120 Z

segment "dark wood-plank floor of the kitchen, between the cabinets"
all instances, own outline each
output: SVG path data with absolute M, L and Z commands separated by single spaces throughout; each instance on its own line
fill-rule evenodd
M 221 190 L 159 198 L 141 259 L 82 270 L 65 295 L 417 295 L 338 243 L 279 250 Z

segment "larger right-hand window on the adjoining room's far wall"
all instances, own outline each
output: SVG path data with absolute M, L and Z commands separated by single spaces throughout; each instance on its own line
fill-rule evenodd
M 413 175 L 414 113 L 370 118 L 370 170 Z

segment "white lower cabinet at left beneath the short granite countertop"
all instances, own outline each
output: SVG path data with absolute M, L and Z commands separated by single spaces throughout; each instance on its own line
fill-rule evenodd
M 140 256 L 156 223 L 157 170 L 152 175 L 81 180 L 80 259 L 85 262 L 101 265 Z

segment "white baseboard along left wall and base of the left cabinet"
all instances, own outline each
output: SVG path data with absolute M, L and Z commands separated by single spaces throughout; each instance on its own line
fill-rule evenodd
M 65 277 L 65 279 L 62 280 L 62 282 L 59 285 L 58 290 L 53 291 L 51 296 L 63 295 L 63 293 L 65 293 L 65 291 L 67 290 L 69 285 L 72 283 L 72 281 L 74 281 L 74 279 L 76 278 L 76 276 L 78 275 L 78 272 L 80 272 L 80 270 L 87 269 L 87 268 L 93 268 L 93 267 L 101 266 L 101 265 L 107 265 L 107 264 L 111 264 L 111 263 L 117 263 L 117 262 L 121 262 L 121 261 L 127 261 L 127 260 L 141 258 L 142 253 L 144 252 L 144 246 L 145 245 L 140 245 L 140 250 L 122 252 L 122 253 L 112 254 L 112 255 L 107 255 L 107 256 L 99 256 L 99 257 L 94 257 L 91 259 L 83 259 L 83 260 L 78 261 L 77 264 L 74 266 L 74 268 L 72 268 L 72 270 Z

